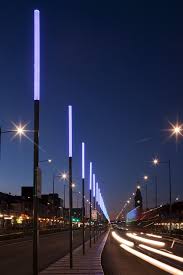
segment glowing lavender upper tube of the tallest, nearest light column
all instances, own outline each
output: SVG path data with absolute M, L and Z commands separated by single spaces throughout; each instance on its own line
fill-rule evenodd
M 34 100 L 40 100 L 40 12 L 34 10 Z

